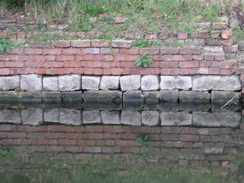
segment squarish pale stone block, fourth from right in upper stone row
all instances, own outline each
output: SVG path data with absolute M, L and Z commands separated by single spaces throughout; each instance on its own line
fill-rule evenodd
M 120 77 L 120 87 L 122 91 L 138 90 L 141 86 L 140 75 L 130 75 Z

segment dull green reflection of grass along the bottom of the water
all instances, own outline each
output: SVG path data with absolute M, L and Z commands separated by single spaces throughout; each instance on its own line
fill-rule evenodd
M 164 165 L 128 165 L 122 160 L 94 160 L 93 164 L 75 165 L 64 160 L 42 162 L 29 166 L 32 181 L 36 183 L 80 183 L 80 182 L 140 182 L 140 183 L 224 183 L 228 177 L 215 174 L 200 174 L 197 168 L 190 166 L 176 167 Z M 38 171 L 34 173 L 32 170 Z M 27 169 L 25 169 L 25 172 Z M 37 173 L 38 172 L 38 173 Z M 5 183 L 13 183 L 21 179 L 28 181 L 28 177 L 0 173 Z

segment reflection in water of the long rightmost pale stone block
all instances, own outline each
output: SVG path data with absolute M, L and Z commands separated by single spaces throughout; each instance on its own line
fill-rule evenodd
M 193 112 L 193 125 L 206 127 L 237 127 L 241 114 L 235 112 Z

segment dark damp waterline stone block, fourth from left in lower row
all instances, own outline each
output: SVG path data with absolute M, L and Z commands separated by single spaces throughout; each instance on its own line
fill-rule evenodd
M 82 92 L 81 91 L 76 91 L 76 92 L 62 92 L 62 101 L 63 103 L 75 103 L 75 104 L 81 104 L 83 101 L 82 98 Z

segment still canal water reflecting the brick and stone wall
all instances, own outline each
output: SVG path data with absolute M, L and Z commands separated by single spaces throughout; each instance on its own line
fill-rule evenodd
M 1 103 L 1 182 L 244 182 L 241 104 Z

